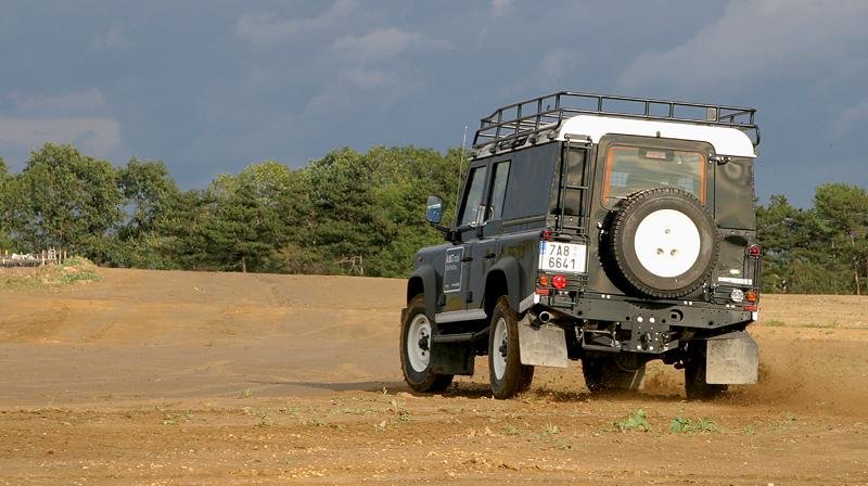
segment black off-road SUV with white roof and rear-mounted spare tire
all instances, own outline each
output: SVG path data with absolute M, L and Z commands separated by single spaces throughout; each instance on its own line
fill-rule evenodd
M 404 376 L 443 391 L 487 355 L 492 392 L 582 360 L 591 392 L 635 391 L 652 359 L 689 398 L 756 382 L 755 110 L 558 92 L 482 119 L 447 243 L 420 250 Z

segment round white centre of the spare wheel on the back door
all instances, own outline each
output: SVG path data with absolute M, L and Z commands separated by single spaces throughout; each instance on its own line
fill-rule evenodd
M 660 209 L 646 216 L 636 228 L 634 240 L 639 264 L 663 278 L 690 270 L 699 258 L 701 245 L 697 225 L 675 209 Z

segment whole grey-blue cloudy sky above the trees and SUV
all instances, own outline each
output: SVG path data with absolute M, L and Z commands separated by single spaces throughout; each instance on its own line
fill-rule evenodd
M 569 89 L 750 105 L 757 193 L 868 187 L 868 2 L 0 0 L 0 156 L 44 141 L 184 188 L 329 150 L 459 145 Z

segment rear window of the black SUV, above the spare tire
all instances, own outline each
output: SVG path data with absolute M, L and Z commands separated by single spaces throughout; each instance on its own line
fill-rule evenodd
M 676 188 L 705 203 L 705 155 L 700 152 L 613 145 L 605 154 L 602 203 L 644 189 Z

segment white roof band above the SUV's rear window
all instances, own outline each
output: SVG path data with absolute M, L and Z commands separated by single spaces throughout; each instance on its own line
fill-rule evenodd
M 743 131 L 728 127 L 679 124 L 616 116 L 577 115 L 566 119 L 558 131 L 558 140 L 565 136 L 588 136 L 598 143 L 605 135 L 638 135 L 664 139 L 698 140 L 709 142 L 717 155 L 755 157 L 753 142 Z

